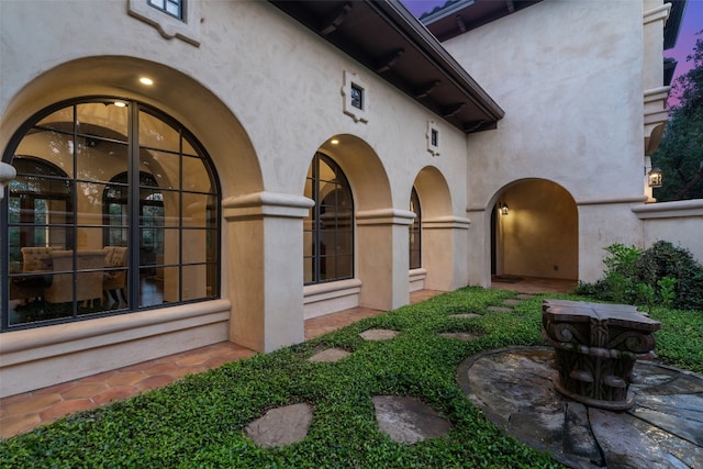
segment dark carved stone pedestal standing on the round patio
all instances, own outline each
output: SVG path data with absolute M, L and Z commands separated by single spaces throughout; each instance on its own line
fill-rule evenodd
M 651 357 L 659 322 L 629 305 L 545 300 L 542 325 L 556 349 L 557 391 L 611 411 L 633 406 L 633 366 Z

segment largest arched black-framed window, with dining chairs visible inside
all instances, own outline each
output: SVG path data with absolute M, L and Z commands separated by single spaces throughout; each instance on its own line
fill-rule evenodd
M 1 211 L 3 331 L 220 295 L 219 182 L 175 120 L 136 101 L 64 102 L 3 161 L 18 170 Z

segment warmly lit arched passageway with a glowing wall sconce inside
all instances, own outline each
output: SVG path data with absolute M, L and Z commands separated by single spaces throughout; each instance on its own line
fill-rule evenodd
M 493 276 L 578 279 L 578 210 L 565 188 L 522 179 L 499 191 L 492 206 Z

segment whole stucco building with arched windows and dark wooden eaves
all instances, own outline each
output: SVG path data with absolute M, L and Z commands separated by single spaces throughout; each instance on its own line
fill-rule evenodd
M 681 8 L 0 2 L 0 395 L 695 249 L 700 203 L 645 203 Z

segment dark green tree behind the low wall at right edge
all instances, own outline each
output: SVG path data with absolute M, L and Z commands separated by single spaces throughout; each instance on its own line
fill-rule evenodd
M 696 33 L 703 35 L 703 31 Z M 693 68 L 673 83 L 679 104 L 671 108 L 652 166 L 663 171 L 663 186 L 655 189 L 659 201 L 703 199 L 703 38 L 695 41 L 687 62 Z

